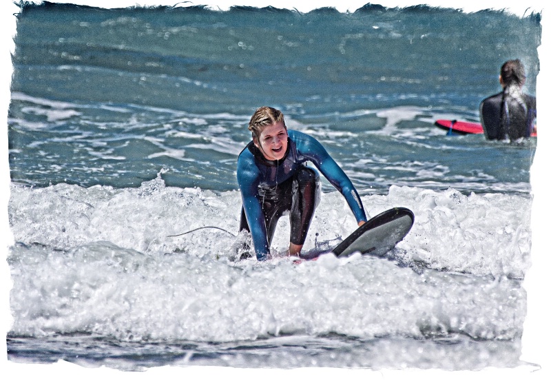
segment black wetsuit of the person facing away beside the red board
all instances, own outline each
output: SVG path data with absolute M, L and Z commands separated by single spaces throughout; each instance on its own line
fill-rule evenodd
M 536 98 L 519 90 L 505 90 L 484 99 L 479 112 L 487 139 L 528 138 L 534 129 Z

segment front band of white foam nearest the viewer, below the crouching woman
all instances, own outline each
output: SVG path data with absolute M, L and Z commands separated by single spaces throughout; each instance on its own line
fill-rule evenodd
M 233 265 L 100 241 L 63 253 L 16 248 L 10 264 L 12 331 L 36 337 L 90 332 L 132 341 L 228 341 L 455 332 L 510 340 L 526 313 L 526 296 L 512 280 L 417 274 L 361 256 Z

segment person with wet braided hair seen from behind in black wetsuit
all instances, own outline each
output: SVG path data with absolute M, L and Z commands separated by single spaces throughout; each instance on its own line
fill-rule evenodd
M 480 103 L 480 121 L 487 139 L 519 141 L 536 132 L 536 98 L 523 94 L 524 66 L 518 59 L 501 66 L 503 91 Z

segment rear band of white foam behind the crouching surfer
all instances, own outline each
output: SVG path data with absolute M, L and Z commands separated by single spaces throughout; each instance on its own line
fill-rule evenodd
M 403 260 L 421 260 L 429 267 L 476 275 L 522 278 L 530 266 L 530 196 L 475 194 L 454 189 L 437 192 L 415 187 L 389 189 L 386 196 L 364 196 L 375 216 L 395 206 L 416 215 L 411 233 L 398 245 Z M 324 194 L 305 249 L 314 240 L 344 237 L 355 222 L 340 194 Z M 232 238 L 218 231 L 200 231 L 167 238 L 205 226 L 237 233 L 238 192 L 215 194 L 201 189 L 165 187 L 162 178 L 138 189 L 83 188 L 59 184 L 47 188 L 12 185 L 10 223 L 17 241 L 55 249 L 107 241 L 144 253 L 185 251 L 194 256 L 229 256 Z M 289 224 L 282 218 L 273 249 L 283 252 Z M 220 236 L 222 234 L 222 236 Z M 202 245 L 197 246 L 196 240 Z

